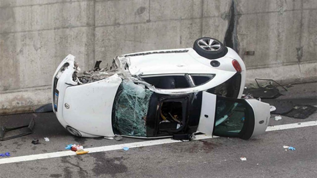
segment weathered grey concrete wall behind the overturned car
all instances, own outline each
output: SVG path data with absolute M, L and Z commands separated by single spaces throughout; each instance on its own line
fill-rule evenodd
M 85 70 L 118 54 L 191 47 L 202 36 L 232 46 L 248 82 L 316 80 L 316 6 L 316 0 L 0 0 L 0 112 L 50 102 L 52 75 L 67 54 Z

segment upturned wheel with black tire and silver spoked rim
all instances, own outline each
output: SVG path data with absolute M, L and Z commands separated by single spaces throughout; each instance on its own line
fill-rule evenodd
M 212 43 L 209 46 L 202 47 L 204 43 L 202 41 L 208 42 L 208 40 L 212 40 Z M 219 46 L 219 48 L 218 48 Z M 207 59 L 218 59 L 220 57 L 223 57 L 227 54 L 228 48 L 225 47 L 222 42 L 220 42 L 217 39 L 210 38 L 210 37 L 203 37 L 198 38 L 194 42 L 193 49 L 201 56 L 207 58 Z

